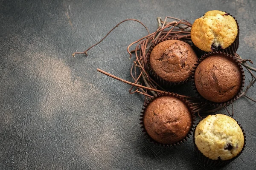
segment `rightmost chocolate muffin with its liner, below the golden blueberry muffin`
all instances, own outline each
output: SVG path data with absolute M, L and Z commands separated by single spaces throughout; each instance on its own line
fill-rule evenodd
M 192 72 L 196 94 L 211 106 L 230 105 L 243 91 L 244 69 L 230 54 L 221 51 L 204 54 Z

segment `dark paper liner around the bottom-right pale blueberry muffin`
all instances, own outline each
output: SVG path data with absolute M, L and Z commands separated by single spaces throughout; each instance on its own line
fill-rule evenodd
M 237 122 L 237 121 L 236 121 L 236 122 Z M 198 123 L 199 123 L 199 122 L 198 122 Z M 238 123 L 238 122 L 237 122 L 237 123 Z M 197 125 L 198 125 L 198 124 L 197 124 Z M 197 127 L 197 125 L 196 125 L 196 127 Z M 242 130 L 242 132 L 243 132 L 243 134 L 244 134 L 244 146 L 243 146 L 241 152 L 240 152 L 239 154 L 237 154 L 237 156 L 233 157 L 233 158 L 230 159 L 230 160 L 225 160 L 225 161 L 222 161 L 222 160 L 220 160 L 220 159 L 218 159 L 218 160 L 209 159 L 208 157 L 204 156 L 204 154 L 201 153 L 200 150 L 198 150 L 198 147 L 197 147 L 196 144 L 195 144 L 195 129 L 196 129 L 196 127 L 195 127 L 195 129 L 194 129 L 194 131 L 193 131 L 193 143 L 194 143 L 194 147 L 195 147 L 195 153 L 197 154 L 198 158 L 199 158 L 201 161 L 203 161 L 204 164 L 209 165 L 209 166 L 212 166 L 212 167 L 223 167 L 223 166 L 227 165 L 228 163 L 230 163 L 231 161 L 233 161 L 233 160 L 235 160 L 236 158 L 238 158 L 238 157 L 241 155 L 241 153 L 244 151 L 245 144 L 246 144 L 246 136 L 245 136 L 244 129 L 243 129 L 243 127 L 242 127 L 239 123 L 238 123 L 238 125 L 241 127 L 241 130 Z

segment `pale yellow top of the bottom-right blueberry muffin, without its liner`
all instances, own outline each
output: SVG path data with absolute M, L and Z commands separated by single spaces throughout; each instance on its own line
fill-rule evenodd
M 228 160 L 237 156 L 244 146 L 244 134 L 233 118 L 209 115 L 195 129 L 195 144 L 209 159 Z

